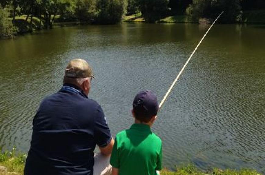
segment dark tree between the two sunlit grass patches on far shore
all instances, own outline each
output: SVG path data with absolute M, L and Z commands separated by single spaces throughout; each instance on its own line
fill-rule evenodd
M 168 0 L 138 0 L 138 3 L 147 23 L 154 23 L 168 12 Z

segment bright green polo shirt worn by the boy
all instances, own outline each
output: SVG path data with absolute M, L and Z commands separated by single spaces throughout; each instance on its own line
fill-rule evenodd
M 119 175 L 156 175 L 162 169 L 162 141 L 146 124 L 133 124 L 116 135 L 110 164 Z

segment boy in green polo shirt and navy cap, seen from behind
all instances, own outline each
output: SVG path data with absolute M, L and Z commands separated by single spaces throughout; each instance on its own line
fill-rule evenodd
M 150 127 L 158 111 L 156 96 L 141 91 L 133 100 L 134 124 L 116 135 L 112 175 L 156 175 L 162 168 L 162 142 Z

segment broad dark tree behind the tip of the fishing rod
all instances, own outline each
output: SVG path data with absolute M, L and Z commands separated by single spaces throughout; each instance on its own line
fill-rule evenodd
M 222 11 L 222 23 L 234 23 L 242 20 L 240 0 L 193 0 L 186 9 L 193 19 L 208 18 L 214 20 Z

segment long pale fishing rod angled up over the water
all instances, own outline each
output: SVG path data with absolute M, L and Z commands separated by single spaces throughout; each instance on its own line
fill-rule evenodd
M 212 26 L 214 25 L 214 23 L 217 21 L 217 19 L 224 13 L 221 12 L 220 15 L 215 19 L 215 21 L 213 22 L 213 24 L 209 27 L 209 29 L 207 30 L 207 32 L 204 34 L 203 38 L 200 40 L 199 44 L 197 45 L 197 47 L 194 49 L 194 51 L 192 52 L 192 54 L 190 55 L 189 59 L 187 60 L 186 64 L 183 66 L 183 68 L 181 69 L 181 71 L 178 73 L 178 76 L 176 77 L 176 79 L 174 80 L 174 82 L 172 83 L 172 85 L 170 86 L 170 88 L 168 89 L 168 92 L 166 93 L 166 95 L 164 96 L 163 100 L 160 102 L 159 104 L 159 109 L 161 109 L 163 103 L 165 102 L 165 100 L 168 97 L 168 94 L 170 93 L 171 89 L 174 87 L 174 85 L 176 84 L 178 78 L 180 77 L 180 75 L 182 74 L 183 70 L 186 68 L 187 64 L 189 63 L 189 60 L 192 58 L 193 54 L 196 52 L 197 48 L 200 46 L 201 42 L 203 41 L 203 39 L 205 38 L 205 36 L 207 35 L 207 33 L 210 31 L 210 29 L 212 28 Z

